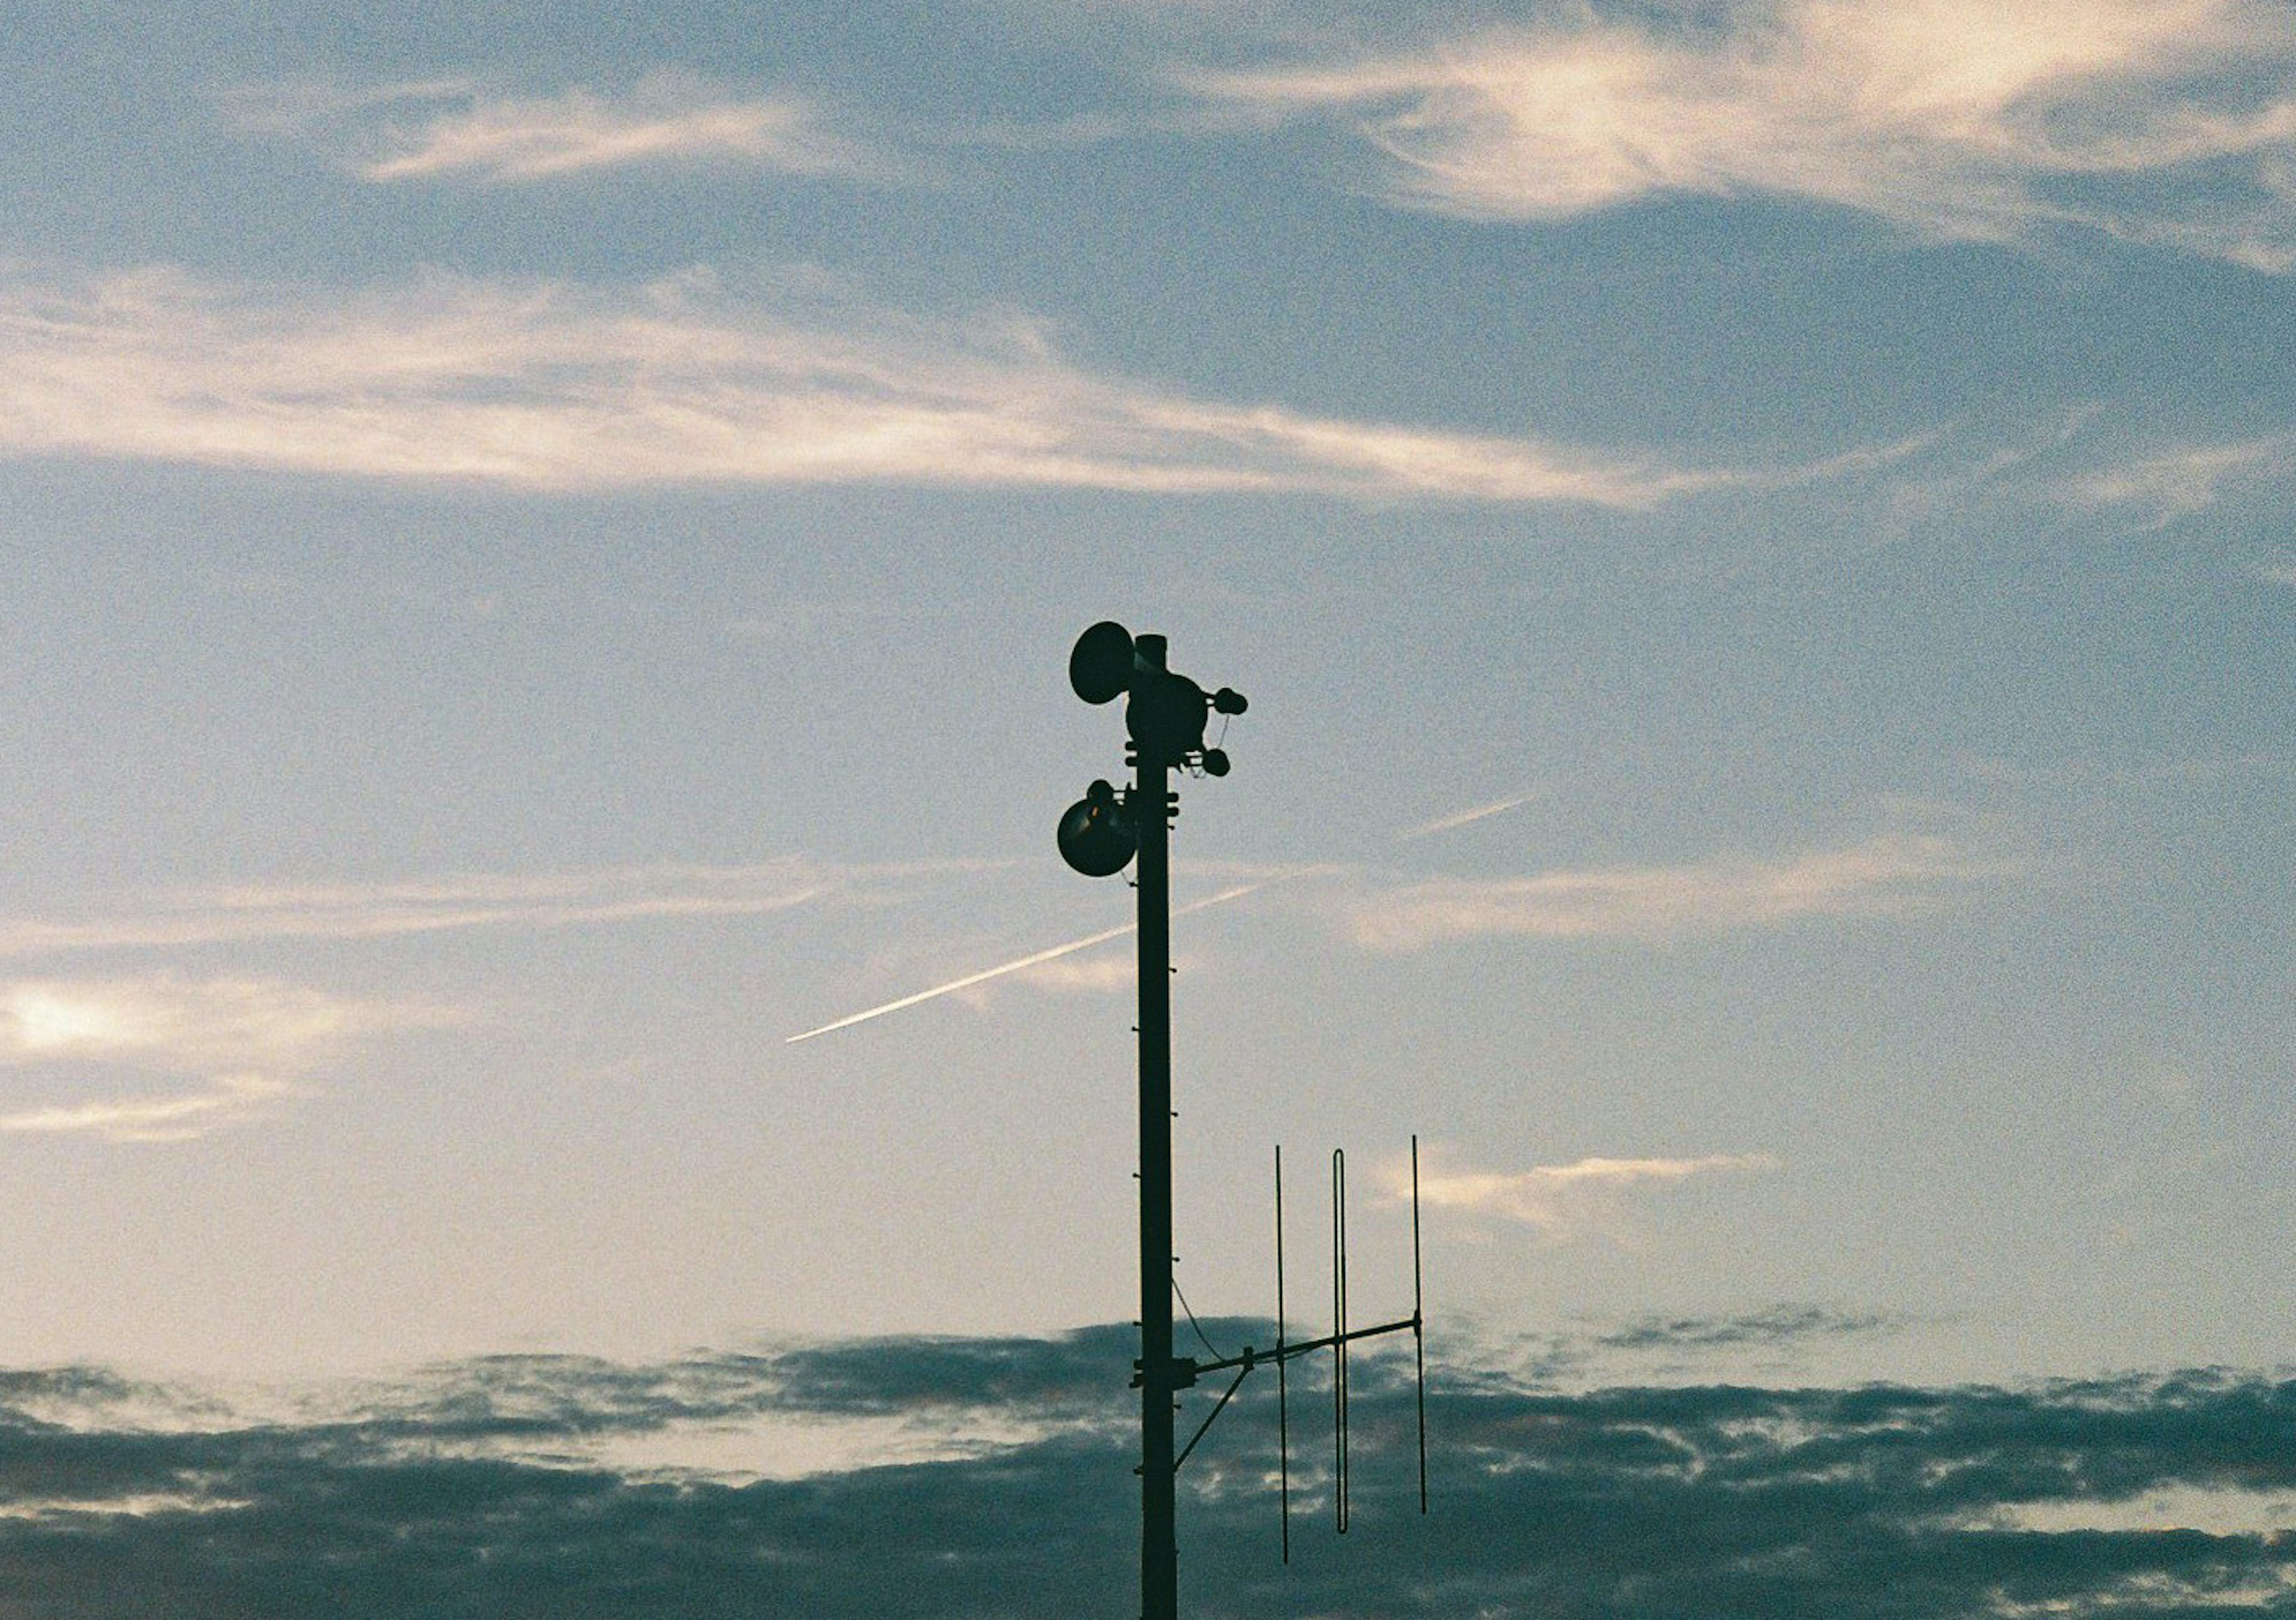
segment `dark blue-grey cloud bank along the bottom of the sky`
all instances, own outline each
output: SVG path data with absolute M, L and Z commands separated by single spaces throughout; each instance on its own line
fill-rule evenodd
M 1318 1494 L 1325 1409 L 1313 1390 L 1295 1404 L 1288 1569 L 1272 1390 L 1221 1418 L 1182 1471 L 1185 1613 L 2296 1611 L 2296 1537 L 2110 1528 L 2138 1519 L 2112 1505 L 2170 1487 L 2296 1489 L 2296 1381 L 1564 1393 L 1444 1367 L 1419 1519 L 1401 1365 L 1357 1363 L 1343 1540 Z M 1120 1618 L 1137 1602 L 1127 1367 L 1120 1328 L 643 1367 L 489 1358 L 262 1425 L 103 1372 L 0 1374 L 0 1615 Z M 154 1420 L 158 1404 L 174 1415 Z M 987 1438 L 948 1461 L 739 1484 L 581 1461 L 602 1438 L 776 1415 Z

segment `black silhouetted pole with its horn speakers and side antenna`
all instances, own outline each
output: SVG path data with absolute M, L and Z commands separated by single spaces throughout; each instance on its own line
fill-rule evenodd
M 1228 756 L 1205 747 L 1212 715 L 1242 715 L 1247 703 L 1233 687 L 1205 692 L 1166 666 L 1164 637 L 1134 637 L 1102 620 L 1077 637 L 1068 657 L 1068 685 L 1086 703 L 1125 696 L 1125 731 L 1132 786 L 1118 790 L 1095 781 L 1068 807 L 1058 825 L 1061 857 L 1086 878 L 1114 878 L 1139 862 L 1139 1186 L 1141 1186 L 1141 1353 L 1132 1383 L 1141 1393 L 1141 1620 L 1178 1620 L 1180 1576 L 1176 1537 L 1176 1473 L 1254 1367 L 1274 1365 L 1279 1397 L 1283 1365 L 1295 1356 L 1332 1351 L 1339 1528 L 1348 1528 L 1348 1379 L 1345 1347 L 1380 1333 L 1412 1330 L 1421 1340 L 1419 1303 L 1419 1140 L 1412 1137 L 1412 1314 L 1373 1328 L 1345 1321 L 1345 1158 L 1334 1154 L 1332 1177 L 1332 1275 L 1334 1330 L 1327 1337 L 1283 1340 L 1283 1158 L 1277 1149 L 1277 1347 L 1199 1363 L 1173 1356 L 1173 1216 L 1171 1216 L 1171 820 L 1180 795 L 1171 772 L 1194 770 L 1226 777 Z M 1212 1406 L 1194 1438 L 1173 1450 L 1173 1413 L 1180 1390 L 1205 1372 L 1235 1372 L 1235 1381 Z M 1426 1358 L 1419 1356 L 1419 1510 L 1426 1512 Z M 1288 1415 L 1279 1406 L 1283 1434 L 1283 1551 L 1290 1556 L 1290 1455 Z

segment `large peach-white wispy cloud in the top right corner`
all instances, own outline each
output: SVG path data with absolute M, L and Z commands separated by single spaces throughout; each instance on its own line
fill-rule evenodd
M 1773 193 L 1933 239 L 2057 223 L 2285 271 L 2291 67 L 2271 0 L 1736 0 L 1192 83 L 1355 113 L 1398 200 L 1474 218 Z

